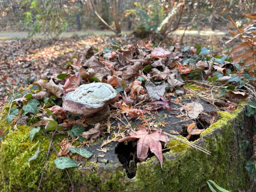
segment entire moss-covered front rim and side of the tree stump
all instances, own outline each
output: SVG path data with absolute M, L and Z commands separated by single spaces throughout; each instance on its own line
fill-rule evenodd
M 195 148 L 186 146 L 177 140 L 170 140 L 169 152 L 164 153 L 163 169 L 156 157 L 137 164 L 137 174 L 127 179 L 121 164 L 97 164 L 86 162 L 78 168 L 68 169 L 72 181 L 80 191 L 209 191 L 206 180 L 211 179 L 230 191 L 247 189 L 247 172 L 244 169 L 245 152 L 241 150 L 242 138 L 246 136 L 244 128 L 244 109 L 237 109 L 234 114 L 220 112 L 220 119 L 212 124 L 195 141 L 195 144 L 212 152 L 207 155 Z M 252 120 L 251 118 L 247 118 Z M 254 123 L 254 122 L 253 122 Z M 253 123 L 251 126 L 253 126 Z M 18 126 L 12 131 L 4 118 L 0 128 L 10 130 L 0 144 L 0 191 L 35 191 L 40 180 L 46 154 L 28 164 L 41 142 L 41 150 L 47 151 L 49 140 L 37 133 L 33 142 L 29 140 L 28 126 Z M 63 135 L 54 136 L 56 142 Z M 56 153 L 51 153 L 46 166 L 45 177 L 54 170 Z M 41 189 L 68 191 L 70 183 L 64 170 L 55 169 L 52 175 L 43 180 Z

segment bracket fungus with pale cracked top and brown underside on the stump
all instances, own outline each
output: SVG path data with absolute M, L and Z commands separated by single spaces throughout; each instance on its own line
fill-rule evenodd
M 110 84 L 83 84 L 62 97 L 63 109 L 83 115 L 86 120 L 93 118 L 93 123 L 96 123 L 108 118 L 108 104 L 113 102 L 116 96 L 116 90 Z

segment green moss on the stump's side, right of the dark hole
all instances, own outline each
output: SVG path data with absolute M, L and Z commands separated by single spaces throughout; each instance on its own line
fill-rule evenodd
M 179 145 L 164 153 L 163 169 L 155 156 L 137 164 L 136 177 L 127 191 L 208 192 L 208 179 L 232 192 L 238 188 L 248 189 L 248 176 L 244 169 L 246 159 L 238 143 L 241 142 L 238 138 L 242 134 L 243 117 L 243 112 L 236 115 L 220 112 L 220 120 L 201 134 L 203 147 L 212 152 L 211 155 L 170 140 L 168 146 Z M 197 144 L 196 141 L 194 143 Z

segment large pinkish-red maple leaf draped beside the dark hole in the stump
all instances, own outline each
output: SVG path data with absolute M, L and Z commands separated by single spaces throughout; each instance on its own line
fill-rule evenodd
M 129 139 L 139 139 L 137 142 L 137 156 L 141 162 L 146 161 L 148 157 L 148 148 L 152 153 L 154 153 L 159 160 L 162 168 L 163 164 L 163 153 L 162 153 L 162 144 L 160 141 L 169 142 L 166 135 L 161 134 L 161 129 L 158 131 L 150 132 L 147 131 L 146 127 L 138 125 L 139 131 L 132 132 L 128 130 L 128 134 L 131 136 L 124 137 L 120 140 L 117 140 L 119 143 L 124 142 Z

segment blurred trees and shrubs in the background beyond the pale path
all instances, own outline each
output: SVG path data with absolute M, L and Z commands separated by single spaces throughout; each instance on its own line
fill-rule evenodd
M 227 15 L 242 26 L 242 13 L 255 11 L 255 0 L 0 0 L 1 31 L 42 32 L 133 30 L 140 37 L 164 38 L 176 29 L 228 30 Z

